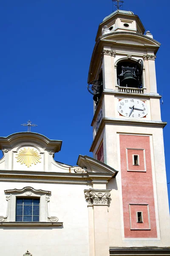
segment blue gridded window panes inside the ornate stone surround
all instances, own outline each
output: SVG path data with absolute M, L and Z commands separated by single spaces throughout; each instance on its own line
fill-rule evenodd
M 40 198 L 17 198 L 16 221 L 37 222 L 40 219 Z

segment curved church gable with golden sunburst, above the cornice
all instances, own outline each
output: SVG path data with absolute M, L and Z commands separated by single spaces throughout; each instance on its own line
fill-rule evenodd
M 42 134 L 21 132 L 11 134 L 8 137 L 0 137 L 0 149 L 3 157 L 0 159 L 0 172 L 23 173 L 24 175 L 40 175 L 44 173 L 48 177 L 50 173 L 56 175 L 86 175 L 91 173 L 94 177 L 97 173 L 108 175 L 108 178 L 116 175 L 116 170 L 91 157 L 79 156 L 78 166 L 70 166 L 54 160 L 54 153 L 61 148 L 61 140 L 50 140 Z M 45 174 L 46 173 L 46 174 Z M 48 174 L 47 174 L 48 173 Z M 54 175 L 55 174 L 55 175 Z M 33 176 L 28 176 L 31 179 Z M 44 177 L 42 177 L 44 179 Z M 63 179 L 64 177 L 62 177 Z M 56 179 L 56 177 L 55 177 Z M 91 177 L 88 177 L 91 179 Z

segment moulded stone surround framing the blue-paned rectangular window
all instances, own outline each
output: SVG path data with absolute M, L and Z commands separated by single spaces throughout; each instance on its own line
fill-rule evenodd
M 51 191 L 42 189 L 34 189 L 33 187 L 24 187 L 23 189 L 9 189 L 4 190 L 6 193 L 6 201 L 8 201 L 6 216 L 0 216 L 0 224 L 4 226 L 61 226 L 62 222 L 58 222 L 55 216 L 48 214 L 48 202 Z M 40 198 L 40 221 L 39 222 L 17 222 L 16 218 L 16 198 Z

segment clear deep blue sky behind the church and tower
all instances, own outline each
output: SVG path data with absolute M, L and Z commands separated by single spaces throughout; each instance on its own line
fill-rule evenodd
M 161 43 L 156 58 L 157 87 L 163 93 L 162 120 L 169 123 L 169 7 L 150 0 L 125 0 Z M 55 160 L 75 165 L 92 143 L 92 95 L 88 68 L 96 32 L 112 12 L 111 0 L 8 0 L 0 2 L 0 136 L 32 131 L 63 140 Z M 164 128 L 167 182 L 170 182 L 169 124 Z M 170 192 L 170 185 L 168 185 Z

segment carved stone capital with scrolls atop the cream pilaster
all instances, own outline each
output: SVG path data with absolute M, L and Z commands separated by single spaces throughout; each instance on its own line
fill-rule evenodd
M 85 189 L 85 199 L 88 201 L 88 206 L 108 205 L 108 200 L 111 199 L 110 191 L 111 189 Z

